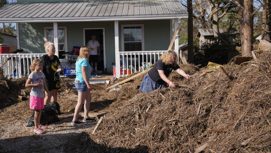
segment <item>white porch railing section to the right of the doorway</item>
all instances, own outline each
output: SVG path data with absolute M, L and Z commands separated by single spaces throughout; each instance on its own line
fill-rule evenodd
M 159 60 L 159 57 L 166 52 L 167 50 L 118 52 L 120 56 L 119 62 L 121 64 L 120 67 L 117 67 L 116 64 L 116 69 L 122 68 L 120 76 L 129 75 L 137 71 L 144 71 L 146 68 L 149 68 L 151 64 Z

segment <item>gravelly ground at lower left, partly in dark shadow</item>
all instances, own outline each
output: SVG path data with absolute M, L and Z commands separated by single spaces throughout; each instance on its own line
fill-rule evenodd
M 82 131 L 92 131 L 90 128 L 96 125 L 96 120 L 71 125 L 71 115 L 59 115 L 60 121 L 47 125 L 45 134 L 34 133 L 34 126 L 26 127 L 29 118 L 9 122 L 0 127 L 0 152 L 64 152 L 71 139 Z

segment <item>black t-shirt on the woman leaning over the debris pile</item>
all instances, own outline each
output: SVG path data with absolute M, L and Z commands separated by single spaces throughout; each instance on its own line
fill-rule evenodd
M 172 72 L 172 70 L 177 70 L 180 66 L 166 65 L 162 60 L 155 62 L 153 68 L 149 70 L 149 77 L 158 84 L 163 84 L 165 81 L 160 77 L 158 70 L 163 70 L 166 77 Z

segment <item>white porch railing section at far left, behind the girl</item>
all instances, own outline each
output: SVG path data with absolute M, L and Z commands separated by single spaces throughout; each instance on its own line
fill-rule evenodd
M 34 59 L 40 59 L 42 54 L 0 54 L 0 66 L 12 56 L 3 66 L 4 75 L 8 78 L 22 78 L 31 73 L 30 66 Z

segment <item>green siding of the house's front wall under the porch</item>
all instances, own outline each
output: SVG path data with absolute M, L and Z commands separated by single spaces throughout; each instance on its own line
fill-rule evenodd
M 121 24 L 144 24 L 145 51 L 167 50 L 170 44 L 170 20 L 119 21 L 119 49 L 121 51 Z M 114 21 L 58 22 L 67 27 L 68 51 L 73 46 L 84 45 L 83 28 L 105 28 L 106 67 L 111 70 L 115 60 Z M 25 53 L 45 53 L 44 27 L 53 23 L 19 23 L 20 49 Z M 61 64 L 67 64 L 61 63 Z

